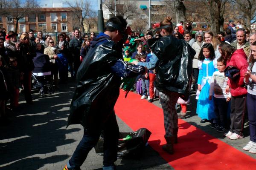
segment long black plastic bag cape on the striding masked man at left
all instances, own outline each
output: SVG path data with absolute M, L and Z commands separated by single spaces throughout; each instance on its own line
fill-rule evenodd
M 111 40 L 91 46 L 77 72 L 67 126 L 81 124 L 87 130 L 96 131 L 113 113 L 121 78 L 111 72 L 111 66 L 121 56 Z

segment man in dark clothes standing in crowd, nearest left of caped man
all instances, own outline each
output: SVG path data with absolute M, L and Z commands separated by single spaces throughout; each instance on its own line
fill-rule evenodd
M 82 46 L 82 38 L 79 37 L 79 29 L 75 29 L 75 37 L 70 40 L 70 52 L 73 58 L 70 62 L 70 74 L 72 78 L 76 78 L 76 72 L 80 66 L 80 49 Z

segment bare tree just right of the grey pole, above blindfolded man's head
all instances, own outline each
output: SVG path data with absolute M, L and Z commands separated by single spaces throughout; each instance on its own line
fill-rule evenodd
M 122 1 L 122 2 L 121 2 Z M 103 5 L 111 14 L 115 14 L 115 1 L 104 0 Z M 135 17 L 140 14 L 137 10 L 138 6 L 135 1 L 131 0 L 116 0 L 116 15 L 121 15 L 125 20 L 128 17 Z

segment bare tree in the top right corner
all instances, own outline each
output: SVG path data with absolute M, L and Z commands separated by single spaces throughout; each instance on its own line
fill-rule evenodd
M 237 6 L 237 9 L 246 22 L 246 26 L 250 27 L 251 20 L 256 17 L 256 0 L 232 0 L 232 2 Z M 253 21 L 253 23 L 255 22 L 256 20 Z

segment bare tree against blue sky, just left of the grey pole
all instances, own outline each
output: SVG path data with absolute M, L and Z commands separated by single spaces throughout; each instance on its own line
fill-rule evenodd
M 71 11 L 76 16 L 77 20 L 79 20 L 80 29 L 82 32 L 85 32 L 84 19 L 92 17 L 96 14 L 96 11 L 92 8 L 91 1 L 74 0 L 73 2 L 70 2 L 66 0 L 64 3 L 66 3 L 67 6 L 71 8 Z

